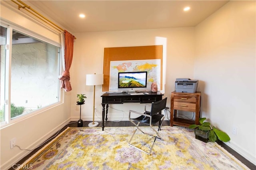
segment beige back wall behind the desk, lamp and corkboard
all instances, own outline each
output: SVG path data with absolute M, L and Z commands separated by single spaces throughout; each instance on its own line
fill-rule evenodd
M 194 69 L 194 27 L 149 29 L 133 31 L 110 31 L 94 33 L 75 33 L 77 39 L 74 43 L 74 56 L 71 66 L 73 94 L 85 93 L 88 97 L 82 106 L 82 119 L 92 120 L 93 87 L 85 85 L 86 74 L 102 74 L 104 47 L 130 47 L 144 45 L 164 45 L 166 56 L 166 84 L 165 94 L 168 97 L 167 106 L 170 107 L 170 94 L 174 91 L 176 78 L 193 78 Z M 97 121 L 101 120 L 101 86 L 96 86 L 95 106 L 97 107 Z M 77 120 L 80 107 L 76 106 L 76 96 L 72 96 L 72 118 Z M 111 105 L 109 120 L 128 120 L 128 110 L 131 108 L 141 110 L 144 105 L 123 104 Z M 169 116 L 170 117 L 170 116 Z

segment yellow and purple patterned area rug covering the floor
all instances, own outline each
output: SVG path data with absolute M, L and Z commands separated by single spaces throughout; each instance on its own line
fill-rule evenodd
M 162 127 L 151 155 L 128 145 L 135 127 L 73 127 L 24 162 L 21 168 L 49 170 L 240 170 L 249 169 L 217 143 L 195 139 L 184 127 Z M 152 133 L 149 127 L 142 127 Z M 153 133 L 152 133 L 153 134 Z M 148 135 L 137 131 L 138 139 Z M 146 149 L 148 145 L 144 146 Z

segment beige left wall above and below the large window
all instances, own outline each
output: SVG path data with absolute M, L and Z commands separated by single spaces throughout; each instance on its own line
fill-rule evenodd
M 60 33 L 42 27 L 27 19 L 26 15 L 20 15 L 20 11 L 8 6 L 1 1 L 1 19 L 16 23 L 24 29 L 32 30 L 35 34 L 42 34 L 47 39 L 60 44 Z M 10 149 L 10 140 L 16 138 L 16 145 L 22 149 L 36 148 L 40 143 L 46 141 L 56 131 L 70 122 L 70 93 L 61 92 L 62 101 L 50 109 L 26 115 L 26 119 L 16 118 L 8 126 L 0 129 L 0 169 L 8 169 L 26 156 L 30 151 L 20 150 L 18 147 Z

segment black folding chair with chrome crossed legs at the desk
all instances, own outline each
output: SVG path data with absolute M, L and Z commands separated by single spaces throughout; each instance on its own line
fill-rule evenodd
M 165 117 L 165 114 L 166 114 L 166 101 L 167 101 L 167 98 L 163 99 L 163 100 L 160 100 L 158 102 L 153 102 L 151 105 L 148 105 L 146 104 L 145 105 L 145 108 L 144 108 L 144 113 L 140 113 L 138 111 L 132 111 L 132 110 L 129 110 L 129 120 L 136 126 L 136 129 L 132 135 L 132 138 L 130 139 L 129 141 L 129 145 L 150 155 L 151 152 L 152 152 L 152 149 L 153 149 L 153 146 L 154 146 L 154 143 L 156 142 L 156 139 L 161 139 L 162 140 L 162 137 L 160 137 L 160 135 L 158 134 L 161 127 L 162 127 L 162 124 L 164 122 L 164 117 Z M 147 111 L 146 110 L 146 107 L 150 106 L 151 107 L 151 110 L 150 111 Z M 164 115 L 161 114 L 162 110 L 164 110 Z M 136 117 L 136 118 L 131 118 L 131 113 L 136 113 L 138 115 L 140 115 L 139 117 Z M 137 124 L 135 123 L 137 122 Z M 159 122 L 159 126 L 158 126 L 158 130 L 156 130 L 154 127 L 152 127 L 152 124 L 155 124 L 155 123 L 158 123 Z M 149 125 L 149 127 L 156 133 L 156 135 L 151 135 L 149 133 L 145 133 L 144 131 L 142 131 L 139 127 L 140 123 L 144 123 L 146 125 Z M 135 145 L 132 145 L 131 142 L 132 142 L 132 139 L 136 133 L 137 130 L 140 130 L 142 133 L 146 134 L 146 135 L 150 135 L 152 136 L 148 141 L 146 142 L 143 142 L 144 144 L 142 144 L 142 146 L 140 147 L 136 147 Z M 153 144 L 152 146 L 150 147 L 150 151 L 149 152 L 146 152 L 145 150 L 142 150 L 142 147 L 144 147 L 149 141 L 151 141 L 151 139 L 154 139 L 153 141 Z

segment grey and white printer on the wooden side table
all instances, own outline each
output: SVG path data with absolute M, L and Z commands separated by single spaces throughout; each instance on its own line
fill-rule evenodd
M 175 88 L 176 92 L 195 93 L 198 85 L 198 80 L 191 80 L 190 78 L 176 78 Z

